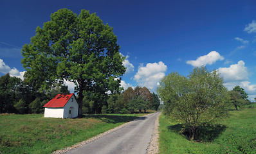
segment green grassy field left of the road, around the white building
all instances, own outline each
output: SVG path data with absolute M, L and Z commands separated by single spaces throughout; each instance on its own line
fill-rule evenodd
M 43 116 L 1 115 L 0 153 L 51 153 L 143 114 L 87 115 L 82 119 L 55 119 Z

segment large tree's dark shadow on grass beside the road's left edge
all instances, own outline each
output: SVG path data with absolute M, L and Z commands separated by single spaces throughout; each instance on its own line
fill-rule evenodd
M 84 115 L 83 118 L 93 118 L 104 121 L 105 123 L 127 123 L 133 121 L 134 119 L 143 119 L 143 117 L 138 116 L 115 116 L 115 115 Z

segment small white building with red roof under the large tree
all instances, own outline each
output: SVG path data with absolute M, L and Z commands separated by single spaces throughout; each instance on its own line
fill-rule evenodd
M 57 94 L 44 105 L 44 117 L 75 118 L 78 116 L 78 103 L 75 94 Z

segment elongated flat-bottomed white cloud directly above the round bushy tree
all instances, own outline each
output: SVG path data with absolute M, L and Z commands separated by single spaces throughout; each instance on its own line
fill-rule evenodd
M 188 60 L 187 64 L 190 64 L 194 67 L 200 67 L 202 65 L 212 65 L 217 60 L 224 60 L 224 57 L 219 55 L 217 51 L 211 51 L 207 55 L 200 56 L 197 58 L 197 60 Z

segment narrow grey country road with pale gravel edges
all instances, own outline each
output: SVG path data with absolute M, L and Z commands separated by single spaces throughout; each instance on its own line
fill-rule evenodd
M 155 112 L 140 117 L 137 121 L 133 121 L 115 132 L 67 153 L 145 153 L 151 140 L 156 117 L 159 115 L 160 112 Z

